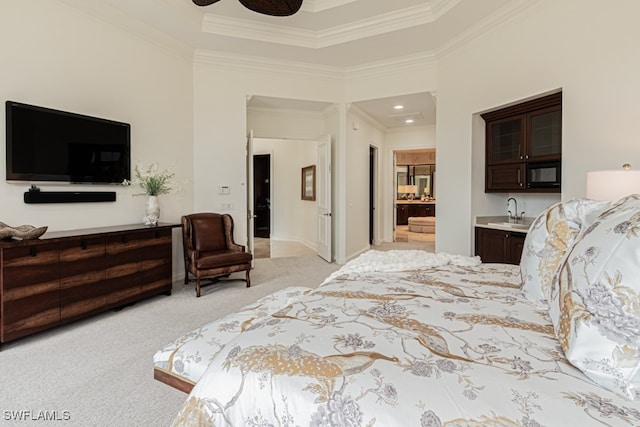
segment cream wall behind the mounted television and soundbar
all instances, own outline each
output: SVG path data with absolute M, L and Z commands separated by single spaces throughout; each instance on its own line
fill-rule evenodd
M 192 59 L 184 51 L 161 47 L 65 3 L 33 0 L 2 2 L 0 52 L 2 101 L 131 123 L 132 162 L 173 167 L 182 184 L 180 194 L 161 197 L 161 221 L 179 222 L 192 209 Z M 4 114 L 0 128 L 4 133 Z M 4 138 L 0 146 L 4 152 Z M 0 221 L 9 225 L 64 230 L 142 222 L 145 199 L 132 197 L 133 188 L 41 185 L 42 191 L 115 190 L 117 200 L 25 204 L 29 184 L 7 184 L 5 167 L 0 162 Z M 180 260 L 176 254 L 176 268 Z

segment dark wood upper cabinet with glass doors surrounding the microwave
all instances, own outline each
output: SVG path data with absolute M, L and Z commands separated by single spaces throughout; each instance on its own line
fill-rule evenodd
M 485 192 L 560 192 L 531 185 L 527 166 L 562 160 L 562 93 L 482 115 L 486 124 Z

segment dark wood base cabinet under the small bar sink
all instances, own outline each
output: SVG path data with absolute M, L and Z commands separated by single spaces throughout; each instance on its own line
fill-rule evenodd
M 526 233 L 476 227 L 476 255 L 482 262 L 520 264 Z

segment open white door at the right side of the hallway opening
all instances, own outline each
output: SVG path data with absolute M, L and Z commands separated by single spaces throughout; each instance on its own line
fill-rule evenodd
M 318 140 L 316 168 L 316 201 L 318 205 L 318 255 L 331 262 L 331 135 Z

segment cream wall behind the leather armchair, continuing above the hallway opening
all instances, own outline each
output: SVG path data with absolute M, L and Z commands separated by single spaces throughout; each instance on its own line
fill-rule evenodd
M 276 98 L 303 99 L 309 101 L 340 103 L 343 86 L 338 75 L 311 73 L 269 63 L 247 68 L 244 62 L 210 56 L 198 52 L 194 64 L 194 194 L 195 206 L 199 210 L 219 210 L 222 202 L 230 201 L 234 210 L 229 212 L 235 219 L 236 237 L 239 243 L 246 242 L 246 138 L 247 130 L 257 127 L 259 136 L 290 137 L 300 127 L 278 119 L 281 126 L 261 126 L 262 119 L 249 122 L 247 96 L 262 95 Z M 253 120 L 253 119 L 252 119 Z M 312 137 L 331 133 L 339 144 L 334 127 L 321 126 L 312 120 Z M 293 126 L 293 127 L 290 127 Z M 321 129 L 322 128 L 322 129 Z M 317 132 L 322 130 L 321 132 Z M 284 135 L 291 131 L 289 135 Z M 295 133 L 296 137 L 310 135 Z M 305 165 L 306 166 L 306 165 Z M 296 182 L 299 181 L 299 177 Z M 229 196 L 216 194 L 217 185 L 231 187 Z M 299 190 L 298 190 L 299 191 Z M 338 190 L 334 191 L 334 194 Z M 297 194 L 298 192 L 296 192 Z M 335 222 L 344 221 L 339 215 Z M 344 242 L 342 243 L 344 244 Z

